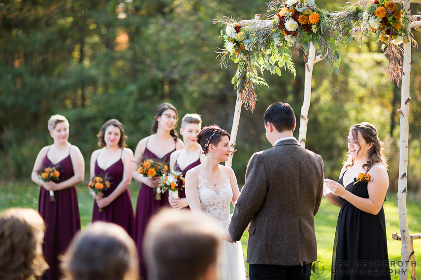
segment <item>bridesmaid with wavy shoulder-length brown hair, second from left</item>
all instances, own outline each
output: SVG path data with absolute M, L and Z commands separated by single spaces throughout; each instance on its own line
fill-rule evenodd
M 125 148 L 126 138 L 123 125 L 116 119 L 104 123 L 98 134 L 98 145 L 103 148 L 92 153 L 91 177 L 107 175 L 110 187 L 99 195 L 91 193 L 95 198 L 92 222 L 118 224 L 133 237 L 134 213 L 128 188 L 133 152 Z

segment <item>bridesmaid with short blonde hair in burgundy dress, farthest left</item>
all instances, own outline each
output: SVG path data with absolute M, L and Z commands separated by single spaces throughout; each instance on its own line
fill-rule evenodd
M 76 184 L 85 178 L 85 161 L 78 147 L 68 142 L 69 123 L 62 115 L 48 120 L 48 130 L 54 140 L 51 146 L 41 149 L 36 157 L 31 179 L 40 185 L 38 212 L 45 222 L 43 252 L 50 269 L 43 278 L 58 280 L 61 277 L 58 256 L 65 253 L 75 233 L 80 229 Z M 60 172 L 55 182 L 43 182 L 37 170 L 56 167 Z M 50 201 L 50 191 L 55 202 Z

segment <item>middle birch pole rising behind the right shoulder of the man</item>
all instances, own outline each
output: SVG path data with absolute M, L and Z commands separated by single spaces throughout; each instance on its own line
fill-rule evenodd
M 313 74 L 313 65 L 315 63 L 316 49 L 313 43 L 310 43 L 310 50 L 308 52 L 308 60 L 305 65 L 305 81 L 304 81 L 304 100 L 303 106 L 301 107 L 300 116 L 300 134 L 298 136 L 298 142 L 305 148 L 305 140 L 307 135 L 307 124 L 308 124 L 308 110 L 310 108 L 311 100 L 311 76 Z

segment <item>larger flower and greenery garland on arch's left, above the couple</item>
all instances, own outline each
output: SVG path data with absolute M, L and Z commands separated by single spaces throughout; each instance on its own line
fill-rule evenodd
M 221 30 L 225 44 L 218 55 L 221 66 L 227 67 L 228 59 L 238 63 L 232 84 L 244 106 L 252 111 L 258 100 L 258 85 L 268 86 L 264 69 L 281 76 L 281 68 L 288 68 L 295 78 L 292 55 L 298 56 L 302 50 L 306 57 L 311 43 L 317 54 L 324 56 L 330 73 L 339 70 L 339 53 L 330 35 L 327 11 L 318 9 L 312 0 L 276 0 L 268 3 L 268 8 L 266 21 L 249 25 L 230 17 L 214 21 L 225 26 Z M 276 13 L 270 14 L 273 11 Z

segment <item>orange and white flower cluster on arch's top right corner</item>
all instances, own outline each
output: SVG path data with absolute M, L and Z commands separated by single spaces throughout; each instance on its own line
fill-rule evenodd
M 336 19 L 332 19 L 332 27 L 340 30 L 338 40 L 350 43 L 357 37 L 374 33 L 375 39 L 384 43 L 382 50 L 388 56 L 388 80 L 399 85 L 403 57 L 403 50 L 399 45 L 411 37 L 407 29 L 409 19 L 404 15 L 403 1 L 360 0 L 343 9 Z

